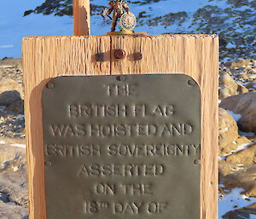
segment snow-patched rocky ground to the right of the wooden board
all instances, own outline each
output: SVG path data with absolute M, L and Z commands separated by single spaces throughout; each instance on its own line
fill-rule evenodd
M 256 218 L 256 61 L 220 66 L 219 219 Z

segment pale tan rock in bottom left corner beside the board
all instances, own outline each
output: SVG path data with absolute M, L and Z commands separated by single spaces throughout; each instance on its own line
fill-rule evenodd
M 0 145 L 0 218 L 28 219 L 25 154 L 24 148 Z

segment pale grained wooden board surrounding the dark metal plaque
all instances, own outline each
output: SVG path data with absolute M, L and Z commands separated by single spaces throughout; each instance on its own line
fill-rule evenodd
M 113 49 L 125 49 L 116 61 Z M 134 53 L 143 59 L 134 61 Z M 96 53 L 104 55 L 96 62 Z M 112 54 L 112 55 L 111 55 Z M 30 218 L 45 219 L 41 92 L 59 75 L 185 73 L 201 86 L 201 219 L 216 219 L 218 208 L 218 37 L 160 35 L 121 37 L 25 37 L 26 143 Z

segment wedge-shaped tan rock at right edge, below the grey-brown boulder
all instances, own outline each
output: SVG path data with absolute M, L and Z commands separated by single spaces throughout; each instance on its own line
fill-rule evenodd
M 253 164 L 256 161 L 256 145 L 229 155 L 226 161 L 235 164 Z

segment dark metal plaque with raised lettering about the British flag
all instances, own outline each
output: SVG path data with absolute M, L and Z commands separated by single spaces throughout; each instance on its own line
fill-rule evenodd
M 200 219 L 192 78 L 53 78 L 43 114 L 47 219 Z

